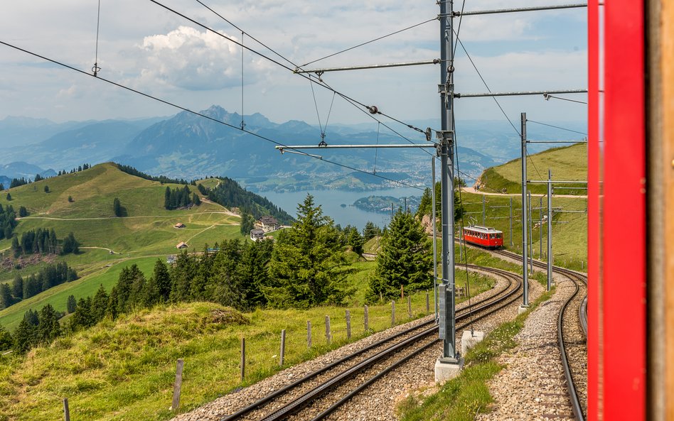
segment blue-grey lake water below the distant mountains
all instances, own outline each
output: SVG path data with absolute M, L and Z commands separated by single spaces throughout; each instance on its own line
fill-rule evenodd
M 367 192 L 349 192 L 344 190 L 307 190 L 301 192 L 260 192 L 261 196 L 267 197 L 278 207 L 297 217 L 297 204 L 304 202 L 307 194 L 314 196 L 314 202 L 320 204 L 323 214 L 334 219 L 336 224 L 341 226 L 352 225 L 362 230 L 368 221 L 375 225 L 384 227 L 388 225 L 391 219 L 390 213 L 380 214 L 378 212 L 365 212 L 357 207 L 351 206 L 353 202 L 360 197 L 368 196 L 393 196 L 410 197 L 421 196 L 422 190 L 413 187 L 401 187 L 399 189 L 368 190 Z M 342 207 L 341 204 L 346 204 Z

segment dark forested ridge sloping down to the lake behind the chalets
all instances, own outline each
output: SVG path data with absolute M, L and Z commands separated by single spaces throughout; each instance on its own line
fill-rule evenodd
M 208 196 L 213 202 L 222 204 L 225 207 L 238 207 L 242 211 L 251 214 L 255 219 L 262 217 L 262 215 L 272 215 L 281 224 L 293 222 L 293 217 L 272 202 L 269 202 L 267 197 L 248 192 L 231 178 L 218 177 L 218 180 L 220 182 L 212 189 L 202 184 L 197 185 L 197 188 L 202 195 Z

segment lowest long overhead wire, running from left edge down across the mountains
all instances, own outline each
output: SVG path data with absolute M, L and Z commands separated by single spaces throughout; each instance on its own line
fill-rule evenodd
M 44 55 L 40 55 L 40 54 L 38 54 L 38 53 L 33 53 L 33 52 L 30 51 L 30 50 L 26 50 L 25 48 L 18 47 L 17 45 L 13 45 L 13 44 L 11 44 L 11 43 L 6 43 L 6 42 L 3 41 L 3 40 L 0 40 L 0 44 L 1 44 L 1 45 L 5 45 L 6 47 L 9 47 L 9 48 L 14 48 L 14 50 L 21 51 L 22 53 L 26 53 L 26 54 L 28 54 L 28 55 L 32 55 L 33 57 L 40 58 L 41 60 L 46 60 L 46 61 L 48 61 L 48 62 L 51 62 L 51 63 L 55 64 L 55 65 L 59 65 L 59 66 L 61 66 L 61 67 L 65 67 L 66 69 L 73 70 L 74 72 L 80 73 L 80 74 L 82 74 L 82 75 L 87 75 L 87 76 L 89 76 L 89 77 L 94 77 L 94 76 L 91 75 L 90 73 L 85 72 L 84 70 L 80 70 L 80 69 L 78 69 L 77 67 L 73 67 L 73 66 L 71 66 L 71 65 L 67 65 L 67 64 L 65 64 L 64 62 L 60 62 L 60 61 L 58 61 L 58 60 L 54 60 L 54 59 L 52 59 L 52 58 L 48 58 L 48 57 L 46 57 L 46 56 L 44 56 Z M 114 86 L 116 86 L 116 87 L 119 87 L 119 88 L 122 88 L 122 89 L 126 89 L 127 91 L 133 92 L 134 94 L 139 94 L 139 95 L 141 95 L 142 97 L 146 97 L 146 98 L 149 98 L 149 99 L 154 99 L 155 101 L 161 102 L 162 104 L 166 104 L 166 105 L 172 106 L 173 108 L 180 109 L 180 110 L 182 110 L 182 111 L 186 111 L 186 112 L 188 112 L 188 113 L 190 113 L 190 114 L 193 114 L 193 115 L 196 115 L 196 116 L 203 117 L 204 119 L 208 119 L 208 120 L 210 120 L 210 121 L 215 121 L 215 123 L 222 124 L 223 126 L 228 126 L 228 127 L 232 128 L 232 129 L 237 129 L 237 130 L 243 131 L 243 132 L 248 133 L 248 134 L 250 134 L 250 135 L 252 135 L 252 136 L 255 136 L 256 138 L 260 138 L 260 139 L 262 139 L 263 141 L 267 141 L 267 142 L 269 142 L 269 143 L 273 143 L 274 145 L 277 145 L 277 146 L 282 146 L 283 148 L 287 148 L 289 151 L 295 151 L 296 153 L 299 153 L 299 154 L 301 154 L 301 155 L 308 156 L 309 158 L 314 158 L 314 159 L 316 159 L 316 160 L 321 160 L 322 162 L 329 163 L 329 164 L 332 164 L 332 165 L 337 165 L 338 167 L 346 168 L 346 169 L 348 169 L 348 170 L 356 171 L 356 172 L 358 172 L 358 173 L 363 173 L 363 174 L 373 175 L 374 177 L 378 177 L 378 178 L 381 178 L 381 179 L 383 179 L 383 180 L 387 180 L 387 181 L 389 181 L 389 182 L 394 182 L 394 183 L 397 184 L 397 185 L 403 185 L 403 186 L 405 186 L 405 187 L 412 187 L 412 188 L 414 188 L 414 189 L 421 190 L 421 191 L 424 190 L 422 187 L 418 187 L 418 186 L 415 186 L 415 185 L 411 185 L 411 184 L 409 184 L 409 183 L 407 183 L 407 182 L 402 182 L 402 181 L 399 181 L 399 180 L 393 180 L 393 179 L 391 179 L 391 178 L 384 177 L 384 176 L 382 176 L 382 175 L 377 175 L 377 174 L 370 173 L 369 171 L 360 170 L 359 168 L 352 167 L 351 165 L 346 165 L 346 164 L 343 164 L 343 163 L 338 163 L 338 162 L 336 162 L 336 161 L 327 160 L 327 159 L 324 159 L 324 158 L 319 157 L 319 156 L 316 156 L 316 155 L 310 155 L 310 154 L 304 153 L 304 152 L 302 152 L 302 151 L 297 151 L 297 150 L 295 150 L 295 149 L 293 149 L 293 148 L 288 148 L 287 145 L 284 145 L 283 143 L 281 143 L 281 142 L 279 142 L 279 141 L 274 141 L 274 139 L 268 138 L 267 136 L 262 136 L 261 134 L 255 133 L 254 131 L 250 131 L 250 130 L 246 130 L 246 129 L 240 129 L 239 127 L 234 126 L 233 124 L 225 123 L 225 121 L 221 121 L 221 120 L 215 119 L 215 118 L 213 118 L 213 117 L 211 117 L 211 116 L 208 116 L 208 115 L 206 115 L 206 114 L 201 114 L 201 113 L 198 112 L 198 111 L 193 111 L 193 110 L 188 109 L 188 108 L 186 108 L 186 107 L 184 107 L 184 106 L 178 105 L 178 104 L 176 104 L 176 103 L 174 103 L 174 102 L 170 102 L 170 101 L 168 101 L 168 100 L 166 100 L 166 99 L 161 99 L 161 98 L 159 98 L 159 97 L 155 97 L 154 95 L 147 94 L 146 92 L 139 91 L 138 89 L 134 89 L 134 88 L 132 88 L 132 87 L 128 87 L 128 86 L 126 86 L 126 85 L 124 85 L 124 84 L 121 84 L 121 83 L 119 83 L 119 82 L 114 82 L 113 80 L 105 79 L 104 77 L 96 77 L 96 79 L 97 79 L 97 80 L 100 80 L 100 81 L 102 81 L 102 82 L 106 82 L 106 83 L 108 83 L 108 84 L 112 84 L 112 85 L 114 85 Z

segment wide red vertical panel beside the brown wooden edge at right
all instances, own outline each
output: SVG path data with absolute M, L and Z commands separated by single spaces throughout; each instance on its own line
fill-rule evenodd
M 646 136 L 643 0 L 606 1 L 604 420 L 646 419 Z

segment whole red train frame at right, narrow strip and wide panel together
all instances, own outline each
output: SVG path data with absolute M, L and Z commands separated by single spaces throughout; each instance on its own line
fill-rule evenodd
M 588 6 L 588 420 L 642 421 L 646 420 L 644 0 L 610 0 L 603 6 L 591 0 Z M 602 138 L 605 143 L 600 143 Z

